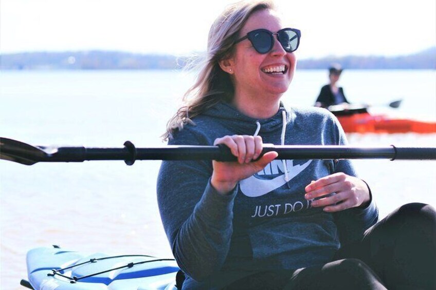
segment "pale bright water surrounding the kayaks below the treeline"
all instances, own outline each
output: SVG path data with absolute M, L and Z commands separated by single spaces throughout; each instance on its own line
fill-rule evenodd
M 402 107 L 390 114 L 436 119 L 435 71 L 345 71 L 350 101 Z M 310 106 L 325 71 L 298 71 L 283 100 Z M 32 145 L 137 147 L 159 136 L 192 75 L 177 71 L 6 71 L 0 78 L 0 136 Z M 350 134 L 354 145 L 436 146 L 436 134 Z M 406 202 L 436 206 L 432 161 L 355 161 L 380 216 Z M 156 203 L 159 161 L 0 161 L 1 289 L 19 286 L 26 252 L 61 245 L 82 252 L 171 257 Z

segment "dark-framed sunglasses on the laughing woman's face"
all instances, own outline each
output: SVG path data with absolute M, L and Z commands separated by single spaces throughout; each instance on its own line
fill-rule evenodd
M 256 51 L 264 54 L 271 51 L 272 47 L 274 47 L 274 35 L 277 35 L 277 39 L 286 52 L 296 51 L 300 45 L 301 31 L 294 28 L 283 28 L 274 33 L 267 29 L 256 29 L 239 38 L 234 44 L 248 38 Z

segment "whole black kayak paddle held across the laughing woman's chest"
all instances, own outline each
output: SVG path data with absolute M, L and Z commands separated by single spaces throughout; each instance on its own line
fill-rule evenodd
M 276 151 L 277 159 L 390 159 L 436 160 L 435 147 L 357 147 L 343 145 L 272 145 L 264 144 L 262 153 Z M 235 161 L 226 146 L 168 145 L 136 148 L 126 141 L 123 148 L 32 146 L 0 137 L 0 159 L 25 165 L 38 162 L 83 162 L 86 160 L 217 160 Z

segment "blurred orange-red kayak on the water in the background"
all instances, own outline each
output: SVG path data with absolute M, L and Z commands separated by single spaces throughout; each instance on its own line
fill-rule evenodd
M 336 115 L 346 133 L 436 133 L 436 122 L 371 114 L 365 107 L 329 110 Z

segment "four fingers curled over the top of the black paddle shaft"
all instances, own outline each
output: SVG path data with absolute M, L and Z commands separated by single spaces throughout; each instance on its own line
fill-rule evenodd
M 240 164 L 257 159 L 262 153 L 262 138 L 260 136 L 233 135 L 215 139 L 213 145 L 224 144 L 231 153 L 238 157 Z M 266 164 L 265 164 L 266 165 Z

